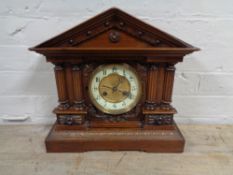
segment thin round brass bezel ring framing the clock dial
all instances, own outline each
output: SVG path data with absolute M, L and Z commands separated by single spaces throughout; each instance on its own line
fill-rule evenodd
M 95 98 L 93 97 L 93 94 L 91 92 L 91 82 L 95 76 L 95 74 L 97 72 L 99 72 L 100 70 L 102 70 L 103 68 L 105 67 L 112 67 L 112 66 L 120 66 L 120 67 L 124 67 L 125 69 L 127 70 L 130 70 L 131 72 L 133 72 L 135 74 L 135 77 L 138 81 L 138 94 L 134 100 L 134 102 L 127 106 L 126 108 L 123 108 L 123 109 L 118 109 L 118 110 L 112 110 L 112 109 L 105 109 L 103 106 L 99 105 L 99 103 L 96 102 Z M 107 113 L 107 114 L 112 114 L 112 115 L 117 115 L 117 114 L 123 114 L 123 113 L 126 113 L 126 112 L 129 112 L 131 109 L 133 109 L 137 103 L 140 101 L 140 98 L 142 96 L 142 84 L 141 84 L 141 81 L 140 81 L 140 78 L 139 78 L 139 75 L 137 73 L 137 71 L 131 67 L 130 65 L 128 64 L 125 64 L 125 63 L 117 63 L 117 64 L 103 64 L 103 65 L 100 65 L 98 66 L 91 74 L 90 78 L 89 78 L 89 83 L 88 83 L 88 94 L 89 94 L 89 98 L 91 100 L 91 102 L 93 103 L 93 105 L 99 109 L 100 111 L 104 112 L 104 113 Z

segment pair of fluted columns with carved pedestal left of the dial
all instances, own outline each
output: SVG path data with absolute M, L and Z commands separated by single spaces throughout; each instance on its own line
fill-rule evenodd
M 85 106 L 81 64 L 68 62 L 55 63 L 55 79 L 59 105 L 53 110 L 58 124 L 86 124 L 87 108 Z M 63 98 L 61 98 L 63 97 Z M 64 104 L 64 100 L 66 103 Z

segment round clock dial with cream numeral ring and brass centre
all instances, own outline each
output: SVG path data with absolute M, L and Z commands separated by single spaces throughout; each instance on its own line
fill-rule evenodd
M 138 103 L 141 83 L 136 71 L 127 64 L 101 65 L 91 75 L 89 96 L 100 111 L 122 114 Z

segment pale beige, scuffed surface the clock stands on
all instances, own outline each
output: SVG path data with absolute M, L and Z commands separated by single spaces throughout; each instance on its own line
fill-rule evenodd
M 232 175 L 233 125 L 180 125 L 182 154 L 46 153 L 49 125 L 0 126 L 0 175 Z

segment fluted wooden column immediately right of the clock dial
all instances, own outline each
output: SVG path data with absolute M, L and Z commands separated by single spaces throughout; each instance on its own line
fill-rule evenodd
M 150 65 L 147 73 L 147 94 L 146 94 L 146 109 L 154 110 L 156 108 L 157 100 L 157 80 L 158 80 L 158 67 Z

